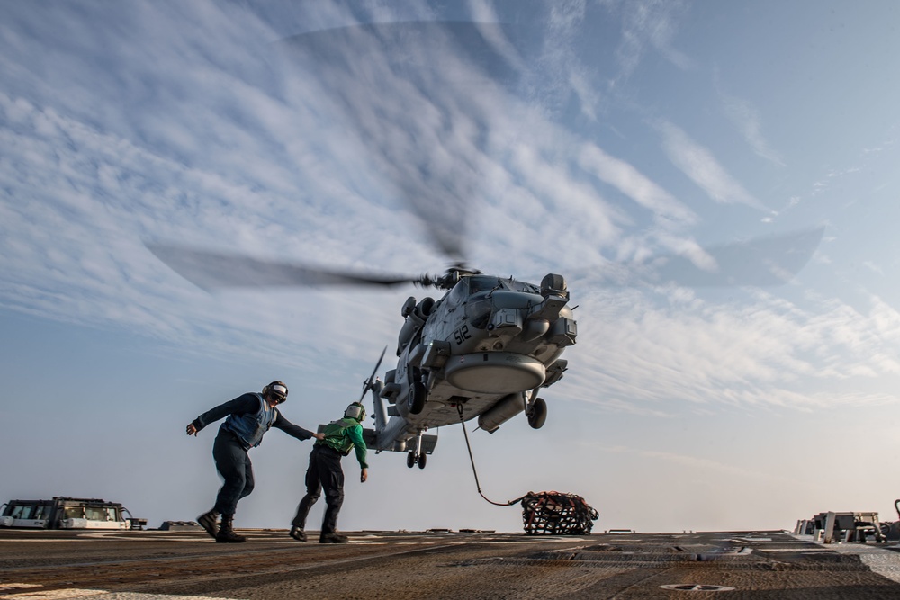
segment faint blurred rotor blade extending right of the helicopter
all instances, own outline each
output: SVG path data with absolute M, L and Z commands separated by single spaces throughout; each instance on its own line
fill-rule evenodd
M 623 265 L 623 285 L 684 287 L 773 286 L 790 281 L 815 254 L 824 228 L 760 237 L 746 242 L 704 248 L 705 256 L 657 257 L 642 264 Z M 711 261 L 708 259 L 712 259 Z M 698 265 L 703 263 L 703 266 Z

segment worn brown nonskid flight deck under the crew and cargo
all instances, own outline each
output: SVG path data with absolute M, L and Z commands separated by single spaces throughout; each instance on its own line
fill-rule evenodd
M 900 597 L 896 545 L 774 531 L 345 532 L 346 545 L 241 533 L 246 543 L 193 531 L 0 531 L 0 600 Z

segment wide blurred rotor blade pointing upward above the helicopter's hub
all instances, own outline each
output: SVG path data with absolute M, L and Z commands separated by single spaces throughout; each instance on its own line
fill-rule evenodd
M 515 33 L 497 23 L 390 22 L 281 42 L 452 261 L 465 259 L 470 204 L 484 187 L 490 117 L 482 105 L 520 76 L 518 49 L 509 44 Z

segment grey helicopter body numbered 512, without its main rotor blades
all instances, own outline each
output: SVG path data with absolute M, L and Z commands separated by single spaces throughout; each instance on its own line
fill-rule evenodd
M 370 441 L 376 450 L 410 452 L 410 466 L 424 466 L 437 443 L 424 435 L 429 428 L 477 417 L 493 433 L 521 412 L 532 427 L 544 425 L 537 392 L 563 377 L 560 356 L 577 336 L 562 275 L 548 274 L 540 286 L 471 271 L 446 280 L 455 283 L 440 300 L 404 302 L 397 367 L 368 385 Z

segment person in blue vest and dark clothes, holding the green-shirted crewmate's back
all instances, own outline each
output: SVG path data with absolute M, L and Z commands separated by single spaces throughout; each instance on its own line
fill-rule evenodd
M 313 434 L 288 421 L 276 408 L 286 399 L 287 386 L 281 381 L 273 381 L 263 388 L 262 393 L 247 392 L 212 408 L 187 425 L 187 434 L 196 435 L 206 425 L 228 417 L 220 426 L 216 441 L 212 444 L 212 458 L 216 461 L 216 469 L 224 483 L 216 497 L 215 506 L 197 517 L 197 522 L 216 542 L 247 540 L 234 533 L 232 523 L 238 500 L 253 491 L 253 466 L 247 451 L 262 443 L 266 431 L 277 427 L 298 440 L 309 440 L 312 437 L 320 440 L 324 437 L 324 434 Z M 218 524 L 219 515 L 221 525 Z

